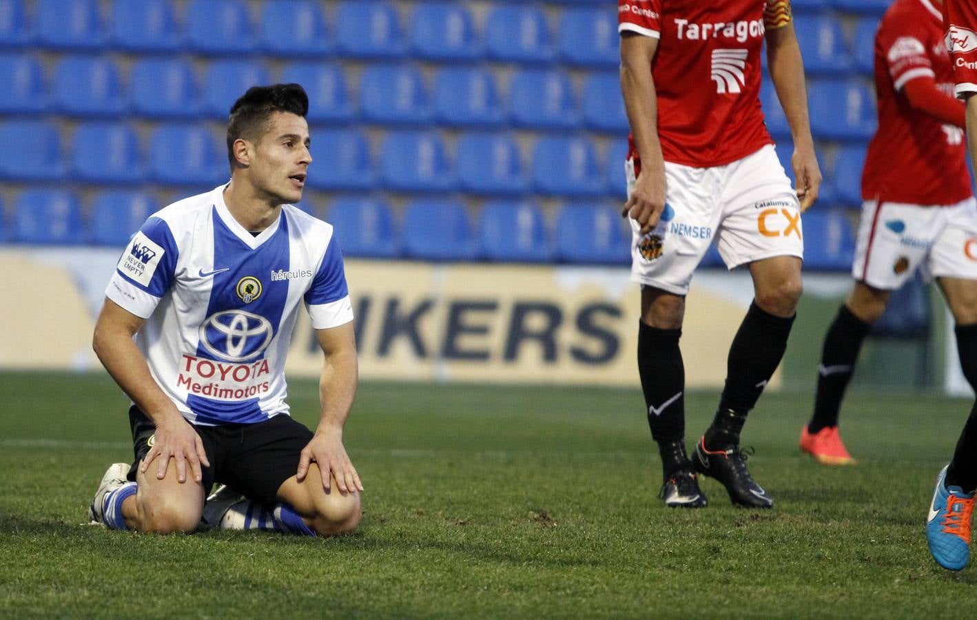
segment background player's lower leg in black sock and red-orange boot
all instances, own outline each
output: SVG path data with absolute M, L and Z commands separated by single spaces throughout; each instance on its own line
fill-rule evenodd
M 855 372 L 862 344 L 888 304 L 890 292 L 856 281 L 828 327 L 818 366 L 811 421 L 801 429 L 800 449 L 822 465 L 854 465 L 838 432 L 838 412 Z

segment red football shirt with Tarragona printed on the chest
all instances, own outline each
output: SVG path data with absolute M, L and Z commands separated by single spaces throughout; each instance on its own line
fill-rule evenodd
M 617 0 L 619 32 L 659 39 L 652 76 L 665 161 L 721 166 L 773 144 L 759 99 L 765 9 L 771 26 L 788 21 L 785 0 Z

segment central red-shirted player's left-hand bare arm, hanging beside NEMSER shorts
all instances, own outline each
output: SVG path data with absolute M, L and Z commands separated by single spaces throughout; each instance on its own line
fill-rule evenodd
M 657 51 L 657 38 L 621 32 L 620 91 L 634 145 L 641 157 L 641 175 L 621 215 L 634 219 L 642 234 L 658 224 L 665 204 L 665 165 L 658 141 L 658 96 L 652 78 L 652 61 Z

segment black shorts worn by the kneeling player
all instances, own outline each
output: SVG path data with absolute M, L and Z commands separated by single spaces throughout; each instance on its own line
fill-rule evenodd
M 140 462 L 149 453 L 156 427 L 136 405 L 129 408 L 129 426 L 136 456 L 129 469 L 129 479 L 135 480 Z M 192 426 L 200 435 L 210 461 L 210 467 L 202 468 L 204 490 L 209 493 L 215 482 L 227 484 L 262 504 L 277 501 L 278 487 L 298 471 L 302 448 L 313 437 L 312 431 L 288 415 L 277 415 L 256 424 Z

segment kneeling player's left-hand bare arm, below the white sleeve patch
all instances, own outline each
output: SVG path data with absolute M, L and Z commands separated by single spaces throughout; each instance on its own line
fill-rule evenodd
M 146 319 L 106 299 L 95 324 L 92 348 L 115 383 L 132 398 L 156 427 L 155 439 L 140 469 L 145 473 L 157 456 L 156 477 L 162 479 L 170 457 L 176 459 L 177 476 L 187 480 L 187 461 L 193 479 L 202 479 L 200 464 L 210 466 L 200 437 L 184 419 L 169 396 L 149 373 L 149 364 L 133 342 Z

